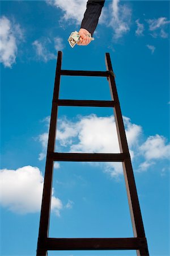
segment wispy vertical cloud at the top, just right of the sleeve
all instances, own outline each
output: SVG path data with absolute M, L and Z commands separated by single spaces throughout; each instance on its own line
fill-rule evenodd
M 108 26 L 114 31 L 114 39 L 121 38 L 130 31 L 131 9 L 127 5 L 120 4 L 120 0 L 113 0 L 109 6 L 111 20 Z

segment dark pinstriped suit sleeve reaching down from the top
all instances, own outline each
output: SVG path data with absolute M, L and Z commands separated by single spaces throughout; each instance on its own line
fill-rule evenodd
M 104 6 L 103 0 L 100 1 L 88 1 L 87 2 L 87 9 L 84 13 L 84 18 L 82 20 L 81 28 L 86 28 L 91 35 L 94 34 L 94 31 L 96 29 L 101 9 Z

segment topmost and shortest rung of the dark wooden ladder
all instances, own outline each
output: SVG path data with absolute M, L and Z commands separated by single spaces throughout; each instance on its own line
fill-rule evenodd
M 65 70 L 61 69 L 62 76 L 104 76 L 109 77 L 108 71 L 83 71 L 83 70 Z

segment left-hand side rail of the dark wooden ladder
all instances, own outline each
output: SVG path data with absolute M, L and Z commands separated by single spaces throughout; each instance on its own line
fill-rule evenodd
M 53 183 L 53 160 L 48 158 L 49 152 L 54 152 L 56 143 L 56 130 L 57 130 L 57 112 L 58 106 L 55 104 L 55 100 L 58 100 L 59 96 L 59 84 L 60 84 L 60 71 L 62 62 L 62 52 L 58 52 L 56 76 L 54 82 L 52 112 L 50 118 L 49 127 L 49 138 L 47 147 L 47 157 L 45 164 L 45 175 L 44 175 L 44 188 L 42 192 L 42 204 L 40 214 L 40 227 L 39 227 L 39 238 L 37 243 L 37 255 L 46 255 L 46 250 L 42 251 L 41 248 L 44 245 L 46 237 L 49 234 L 49 221 L 50 221 L 50 205 L 52 198 L 52 183 Z

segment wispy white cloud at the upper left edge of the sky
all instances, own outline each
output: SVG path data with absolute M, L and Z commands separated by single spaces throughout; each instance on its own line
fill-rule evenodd
M 16 63 L 18 44 L 23 40 L 23 31 L 19 24 L 11 22 L 6 16 L 0 18 L 0 61 L 11 68 Z

